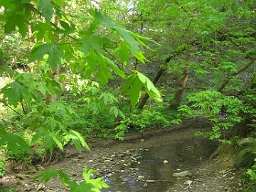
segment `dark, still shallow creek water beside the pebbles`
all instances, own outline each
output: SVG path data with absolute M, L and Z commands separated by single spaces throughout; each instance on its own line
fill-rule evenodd
M 181 180 L 172 175 L 185 170 L 193 172 L 196 166 L 208 159 L 217 146 L 208 139 L 194 137 L 185 137 L 179 141 L 177 139 L 161 141 L 161 137 L 156 140 L 159 142 L 156 146 L 142 152 L 140 164 L 131 165 L 139 169 L 138 175 L 144 176 L 144 181 L 137 181 L 136 177 L 129 176 L 126 172 L 114 174 L 110 178 L 105 176 L 105 181 L 110 186 L 105 191 L 172 191 Z M 164 160 L 169 163 L 164 164 Z

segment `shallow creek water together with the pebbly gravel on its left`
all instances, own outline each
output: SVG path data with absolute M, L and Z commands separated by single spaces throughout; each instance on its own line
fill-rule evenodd
M 101 176 L 110 186 L 104 191 L 186 190 L 189 182 L 200 181 L 196 170 L 217 147 L 208 139 L 195 137 L 194 132 L 195 129 L 181 130 L 129 142 L 92 144 L 92 152 L 72 156 L 48 169 L 61 169 L 76 181 L 82 181 L 82 166 L 87 164 L 98 169 L 95 177 Z M 165 160 L 168 163 L 164 164 Z M 190 171 L 192 176 L 173 176 L 181 171 Z M 52 191 L 65 191 L 59 181 L 49 181 L 46 186 Z

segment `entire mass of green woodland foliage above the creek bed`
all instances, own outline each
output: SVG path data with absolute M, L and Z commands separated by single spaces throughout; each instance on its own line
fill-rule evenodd
M 233 129 L 240 159 L 249 154 L 252 162 L 255 2 L 131 3 L 0 1 L 0 81 L 7 79 L 0 85 L 0 144 L 9 159 L 26 164 L 67 144 L 90 149 L 85 135 L 123 139 L 132 130 L 206 117 L 210 139 L 228 144 L 223 132 Z M 138 70 L 154 84 L 160 79 L 161 93 Z M 148 108 L 136 111 L 145 94 Z M 172 114 L 153 100 L 166 109 L 181 105 Z M 248 170 L 254 178 L 255 167 Z M 76 190 L 89 183 L 83 185 Z

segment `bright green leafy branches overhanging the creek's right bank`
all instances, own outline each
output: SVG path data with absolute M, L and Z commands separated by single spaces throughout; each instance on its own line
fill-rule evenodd
M 206 117 L 212 124 L 210 139 L 218 139 L 222 130 L 228 130 L 241 122 L 240 112 L 244 105 L 233 96 L 225 96 L 220 92 L 206 90 L 188 95 L 192 105 L 181 105 L 178 111 L 185 117 Z

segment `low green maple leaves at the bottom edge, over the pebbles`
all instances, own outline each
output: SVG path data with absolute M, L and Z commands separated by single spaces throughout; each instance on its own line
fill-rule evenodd
M 63 171 L 57 171 L 57 170 L 49 170 L 49 171 L 43 171 L 41 174 L 38 174 L 34 179 L 37 178 L 40 179 L 40 183 L 47 182 L 50 179 L 57 178 L 59 176 L 60 180 L 62 181 L 63 185 L 70 188 L 71 192 L 75 191 L 94 191 L 94 192 L 100 192 L 102 188 L 108 188 L 106 183 L 102 181 L 102 178 L 90 178 L 91 174 L 94 174 L 97 171 L 94 171 L 92 169 L 87 171 L 87 167 L 82 171 L 82 176 L 84 178 L 84 181 L 77 183 L 75 181 L 72 181 L 67 174 L 65 174 Z

